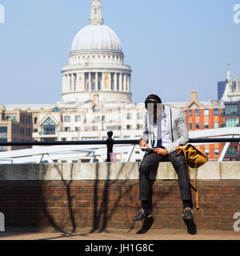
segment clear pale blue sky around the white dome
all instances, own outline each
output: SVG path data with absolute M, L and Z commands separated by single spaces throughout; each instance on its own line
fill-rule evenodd
M 102 0 L 102 17 L 133 70 L 132 102 L 216 100 L 228 64 L 240 71 L 240 0 Z M 92 0 L 0 0 L 0 105 L 61 101 L 62 66 Z M 239 9 L 240 10 L 240 9 Z M 240 14 L 239 14 L 240 18 Z

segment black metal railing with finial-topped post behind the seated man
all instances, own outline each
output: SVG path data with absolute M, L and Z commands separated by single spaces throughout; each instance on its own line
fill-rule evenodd
M 0 146 L 59 146 L 59 145 L 105 145 L 106 144 L 106 162 L 110 162 L 110 153 L 113 152 L 114 144 L 132 144 L 138 145 L 139 139 L 118 139 L 114 140 L 112 131 L 107 132 L 106 140 L 94 141 L 47 141 L 47 142 L 0 142 Z M 240 138 L 190 138 L 188 143 L 239 143 Z

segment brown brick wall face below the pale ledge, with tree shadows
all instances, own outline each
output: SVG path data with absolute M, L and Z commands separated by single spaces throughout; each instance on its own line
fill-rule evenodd
M 198 180 L 197 229 L 233 230 L 240 180 Z M 195 202 L 195 194 L 193 191 Z M 138 180 L 0 181 L 0 212 L 10 227 L 56 230 L 133 228 L 140 207 Z M 156 180 L 151 228 L 186 228 L 178 180 Z M 142 226 L 135 222 L 134 228 Z

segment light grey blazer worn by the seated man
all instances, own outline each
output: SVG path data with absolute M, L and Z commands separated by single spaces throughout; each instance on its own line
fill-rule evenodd
M 176 150 L 177 146 L 186 145 L 189 141 L 189 134 L 182 110 L 171 108 L 167 104 L 163 104 L 163 106 L 166 110 L 167 126 L 170 130 L 170 137 L 172 138 L 172 142 L 165 146 L 165 148 L 168 154 L 171 154 Z M 140 138 L 143 138 L 148 146 L 153 146 L 154 142 L 154 126 L 153 122 L 151 122 L 151 118 L 153 118 L 153 116 L 146 112 L 145 128 L 143 130 L 142 137 Z

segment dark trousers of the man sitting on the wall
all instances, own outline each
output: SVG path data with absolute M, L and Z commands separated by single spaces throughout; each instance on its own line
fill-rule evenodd
M 139 195 L 141 201 L 151 201 L 150 172 L 158 170 L 159 162 L 171 162 L 178 174 L 178 184 L 182 200 L 192 200 L 190 180 L 186 170 L 186 160 L 183 154 L 175 155 L 176 152 L 162 156 L 155 152 L 145 154 L 139 168 Z

